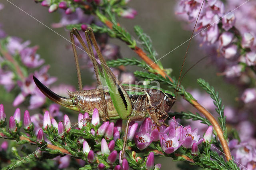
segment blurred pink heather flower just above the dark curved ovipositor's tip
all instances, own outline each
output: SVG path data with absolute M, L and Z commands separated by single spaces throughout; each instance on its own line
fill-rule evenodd
M 29 68 L 39 67 L 44 63 L 44 59 L 40 59 L 40 55 L 36 54 L 38 47 L 26 47 L 20 51 L 20 58 L 22 63 Z

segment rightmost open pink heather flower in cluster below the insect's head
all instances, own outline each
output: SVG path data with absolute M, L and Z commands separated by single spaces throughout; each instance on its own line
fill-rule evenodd
M 190 126 L 184 127 L 184 131 L 182 134 L 182 140 L 184 140 L 184 143 L 182 144 L 182 146 L 184 148 L 191 148 L 193 143 L 202 143 L 204 139 L 200 139 L 200 135 L 197 134 L 198 128 L 194 128 L 194 130 L 191 130 Z

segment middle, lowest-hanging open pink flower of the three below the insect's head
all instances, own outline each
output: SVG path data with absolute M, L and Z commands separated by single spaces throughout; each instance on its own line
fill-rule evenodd
M 160 136 L 160 144 L 161 144 L 163 151 L 166 154 L 171 154 L 172 152 L 174 152 L 175 150 L 180 148 L 180 146 L 183 144 L 184 141 L 179 140 L 179 138 L 180 138 L 180 136 L 176 136 L 174 138 L 169 138 L 169 136 L 167 134 L 164 134 L 164 136 L 161 135 Z

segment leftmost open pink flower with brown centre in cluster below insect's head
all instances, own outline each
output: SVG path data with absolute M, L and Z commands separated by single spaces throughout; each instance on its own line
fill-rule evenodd
M 153 137 L 150 137 L 150 134 L 146 132 L 146 128 L 142 128 L 141 131 L 136 132 L 134 135 L 134 140 L 136 146 L 142 150 L 148 147 L 153 141 Z

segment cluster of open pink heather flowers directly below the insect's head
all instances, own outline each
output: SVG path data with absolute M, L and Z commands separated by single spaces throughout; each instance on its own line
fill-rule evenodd
M 140 126 L 138 132 L 135 133 L 135 144 L 139 149 L 145 149 L 152 142 L 160 140 L 162 150 L 166 154 L 171 154 L 177 150 L 180 146 L 184 148 L 192 148 L 192 154 L 198 154 L 198 145 L 203 141 L 211 141 L 212 138 L 212 126 L 208 127 L 204 138 L 200 138 L 198 135 L 198 128 L 194 130 L 190 126 L 179 126 L 175 117 L 172 118 L 173 122 L 169 127 L 162 125 L 157 127 L 152 123 L 150 118 L 146 118 Z

